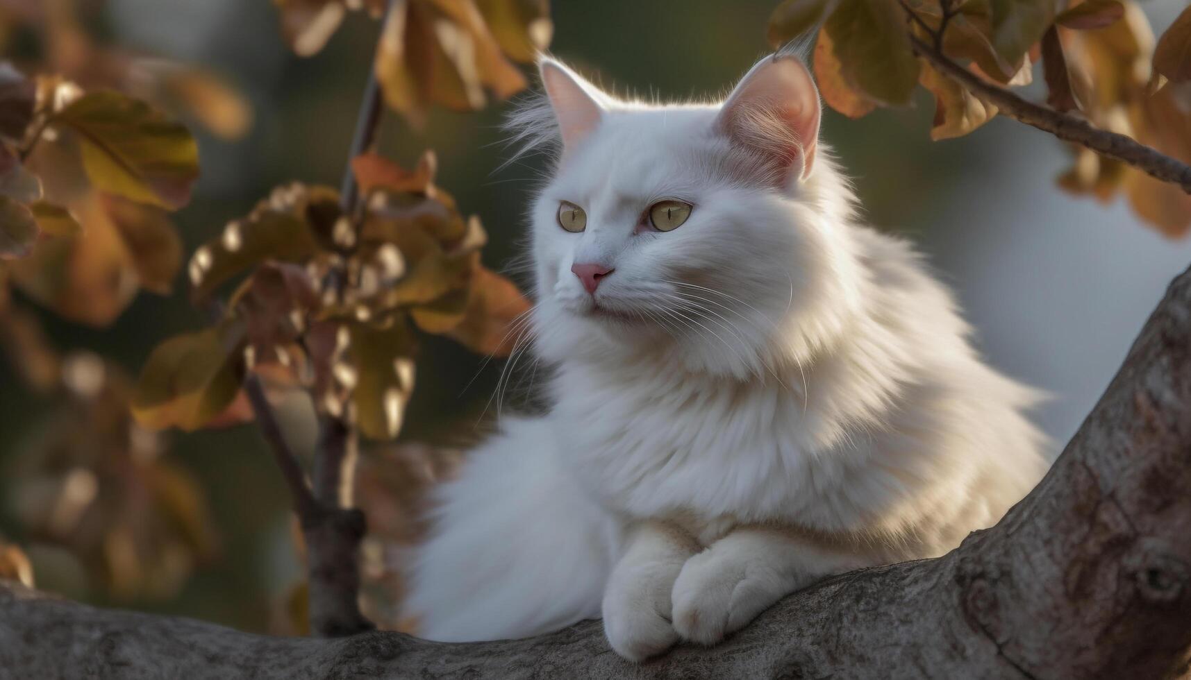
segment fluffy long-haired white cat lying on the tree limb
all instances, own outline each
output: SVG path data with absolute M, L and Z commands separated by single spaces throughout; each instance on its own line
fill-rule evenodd
M 425 637 L 603 616 L 630 660 L 715 643 L 825 575 L 946 553 L 1037 481 L 1035 393 L 855 222 L 797 57 L 712 105 L 541 74 L 513 126 L 561 142 L 531 213 L 551 407 L 441 488 L 407 605 Z

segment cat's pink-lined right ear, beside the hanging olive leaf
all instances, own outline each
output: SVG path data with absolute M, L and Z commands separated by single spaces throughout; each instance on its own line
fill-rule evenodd
M 753 67 L 724 101 L 716 129 L 759 154 L 779 171 L 805 180 L 815 164 L 822 107 L 811 74 L 794 55 L 777 54 Z

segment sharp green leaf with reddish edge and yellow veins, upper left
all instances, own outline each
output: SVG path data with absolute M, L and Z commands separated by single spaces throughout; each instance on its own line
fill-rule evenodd
M 111 91 L 83 95 L 52 120 L 79 135 L 87 175 L 104 192 L 170 210 L 189 202 L 199 148 L 186 126 Z

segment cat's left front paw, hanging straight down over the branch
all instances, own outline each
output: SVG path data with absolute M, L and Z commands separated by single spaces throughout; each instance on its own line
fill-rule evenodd
M 678 642 L 669 620 L 678 569 L 641 564 L 617 569 L 604 589 L 604 635 L 617 654 L 644 661 Z

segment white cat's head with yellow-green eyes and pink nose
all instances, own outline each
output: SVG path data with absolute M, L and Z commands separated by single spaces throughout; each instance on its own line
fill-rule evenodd
M 540 65 L 544 101 L 512 120 L 559 151 L 531 212 L 540 353 L 744 378 L 840 332 L 850 194 L 796 56 L 762 60 L 718 104 L 622 101 Z

